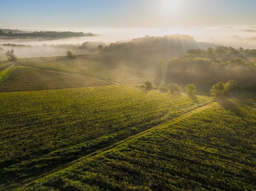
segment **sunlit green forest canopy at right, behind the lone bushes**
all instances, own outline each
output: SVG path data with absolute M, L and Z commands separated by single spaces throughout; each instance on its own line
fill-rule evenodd
M 167 61 L 166 83 L 195 83 L 210 87 L 219 81 L 235 80 L 238 89 L 256 88 L 256 50 L 218 46 L 193 49 Z

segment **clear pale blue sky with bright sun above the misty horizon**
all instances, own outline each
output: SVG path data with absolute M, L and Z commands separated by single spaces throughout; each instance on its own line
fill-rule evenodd
M 0 0 L 0 28 L 256 26 L 256 0 Z

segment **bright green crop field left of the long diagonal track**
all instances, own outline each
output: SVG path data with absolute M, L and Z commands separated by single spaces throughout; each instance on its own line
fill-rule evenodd
M 2 188 L 212 102 L 126 86 L 0 94 Z M 1 187 L 0 187 L 1 188 Z

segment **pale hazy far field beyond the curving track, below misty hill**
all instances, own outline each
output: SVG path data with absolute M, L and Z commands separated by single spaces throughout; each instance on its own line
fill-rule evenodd
M 122 63 L 118 67 L 113 68 L 108 64 L 94 61 L 93 55 L 79 56 L 76 59 L 67 59 L 66 57 L 26 58 L 19 59 L 19 62 L 32 67 L 104 77 L 128 85 L 138 85 L 146 80 L 153 79 L 153 75 L 145 70 L 124 67 Z

